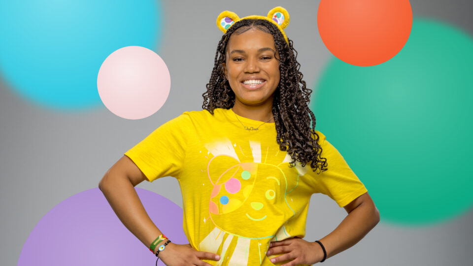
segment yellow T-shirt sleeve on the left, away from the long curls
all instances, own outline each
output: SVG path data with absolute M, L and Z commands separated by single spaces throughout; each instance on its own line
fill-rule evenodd
M 179 178 L 190 126 L 188 112 L 184 112 L 154 130 L 125 155 L 138 166 L 149 182 L 164 176 Z

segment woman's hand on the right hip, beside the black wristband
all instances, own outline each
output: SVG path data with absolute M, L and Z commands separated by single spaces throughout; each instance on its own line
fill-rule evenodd
M 281 266 L 294 266 L 300 264 L 312 265 L 320 262 L 324 258 L 324 253 L 320 245 L 316 242 L 308 242 L 302 238 L 294 237 L 282 241 L 270 243 L 270 249 L 266 255 L 285 253 L 271 259 L 272 263 L 292 260 Z

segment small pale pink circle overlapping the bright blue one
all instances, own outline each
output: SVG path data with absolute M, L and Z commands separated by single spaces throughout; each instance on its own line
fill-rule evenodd
M 97 76 L 105 107 L 126 119 L 141 119 L 158 111 L 168 99 L 170 86 L 166 63 L 141 46 L 127 46 L 111 53 Z

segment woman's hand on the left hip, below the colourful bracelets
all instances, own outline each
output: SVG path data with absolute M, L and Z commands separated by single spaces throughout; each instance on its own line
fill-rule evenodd
M 156 250 L 157 248 L 158 247 L 156 247 Z M 201 259 L 208 259 L 213 261 L 220 260 L 220 256 L 218 256 L 217 254 L 205 251 L 197 251 L 193 249 L 190 244 L 179 245 L 174 244 L 172 242 L 166 245 L 166 248 L 163 251 L 159 252 L 158 257 L 167 266 L 210 266 L 210 264 L 202 261 Z

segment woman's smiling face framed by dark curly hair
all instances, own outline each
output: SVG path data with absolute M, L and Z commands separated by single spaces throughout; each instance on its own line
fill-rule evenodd
M 252 28 L 230 36 L 226 63 L 222 65 L 236 104 L 261 105 L 268 101 L 272 104 L 280 80 L 278 60 L 279 53 L 270 33 Z

